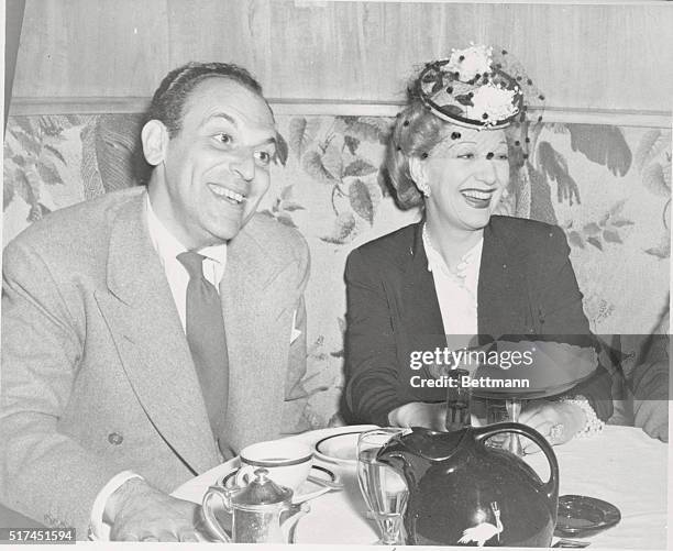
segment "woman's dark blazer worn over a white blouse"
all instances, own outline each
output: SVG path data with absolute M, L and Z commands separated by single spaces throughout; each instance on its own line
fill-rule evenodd
M 563 231 L 532 220 L 494 216 L 484 229 L 478 278 L 479 339 L 554 335 L 596 343 L 582 309 L 582 294 Z M 345 268 L 345 417 L 388 425 L 393 409 L 409 401 L 440 401 L 445 389 L 409 385 L 411 351 L 446 346 L 422 223 L 407 225 L 355 249 Z M 611 381 L 604 368 L 575 389 L 602 419 L 613 414 Z

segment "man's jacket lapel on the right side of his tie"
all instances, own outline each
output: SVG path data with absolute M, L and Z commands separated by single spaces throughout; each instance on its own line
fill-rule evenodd
M 291 263 L 262 246 L 253 219 L 229 243 L 220 285 L 229 351 L 229 400 L 223 437 L 233 453 L 280 431 L 293 311 Z

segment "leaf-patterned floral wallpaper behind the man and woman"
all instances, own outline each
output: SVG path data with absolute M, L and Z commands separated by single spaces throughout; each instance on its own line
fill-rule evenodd
M 274 168 L 261 210 L 298 228 L 311 250 L 307 388 L 319 427 L 342 386 L 345 257 L 419 213 L 396 207 L 378 169 L 390 119 L 283 115 L 278 124 L 289 158 Z M 3 243 L 52 210 L 146 177 L 140 126 L 136 114 L 10 118 Z M 500 212 L 564 229 L 596 333 L 649 333 L 669 296 L 671 131 L 542 123 L 523 145 L 512 132 L 520 169 Z

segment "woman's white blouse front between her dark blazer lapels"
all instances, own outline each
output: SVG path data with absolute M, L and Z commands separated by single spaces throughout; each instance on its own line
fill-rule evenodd
M 423 247 L 428 256 L 428 271 L 432 272 L 434 280 L 444 333 L 465 335 L 465 339 L 461 337 L 456 337 L 455 341 L 451 339 L 449 345 L 452 349 L 470 346 L 471 338 L 478 331 L 477 287 L 484 239 L 482 238 L 463 255 L 455 272 L 449 269 L 442 255 L 432 246 L 426 225 L 423 225 Z

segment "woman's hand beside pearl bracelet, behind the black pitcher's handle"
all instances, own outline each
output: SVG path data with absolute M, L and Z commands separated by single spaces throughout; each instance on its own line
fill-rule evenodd
M 552 445 L 571 440 L 586 423 L 582 408 L 564 401 L 531 401 L 519 416 L 519 422 L 536 429 Z M 539 452 L 531 440 L 523 440 L 526 453 Z

